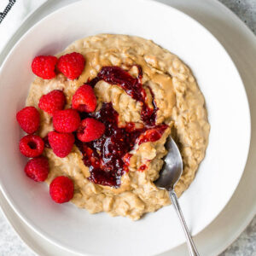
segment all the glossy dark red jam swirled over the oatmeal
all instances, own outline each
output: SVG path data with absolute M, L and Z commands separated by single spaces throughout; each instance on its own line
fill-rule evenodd
M 104 135 L 95 141 L 82 143 L 76 140 L 76 145 L 83 154 L 84 165 L 89 166 L 89 179 L 93 183 L 118 188 L 122 175 L 128 172 L 131 158 L 129 152 L 134 145 L 159 140 L 168 127 L 168 125 L 155 125 L 157 108 L 155 104 L 154 109 L 148 108 L 141 79 L 142 72 L 135 79 L 120 67 L 102 67 L 97 77 L 89 82 L 94 86 L 98 81 L 104 80 L 122 87 L 128 95 L 143 103 L 144 123 L 142 129 L 136 129 L 133 123 L 119 127 L 119 113 L 113 109 L 112 103 L 103 103 L 102 108 L 96 113 L 80 113 L 81 119 L 92 117 L 101 121 L 106 127 Z M 152 96 L 154 98 L 153 94 Z M 144 169 L 141 168 L 141 171 Z

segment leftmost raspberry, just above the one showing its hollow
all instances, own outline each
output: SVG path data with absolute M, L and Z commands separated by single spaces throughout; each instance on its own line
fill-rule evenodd
M 26 107 L 22 108 L 18 113 L 16 113 L 16 119 L 23 131 L 31 134 L 38 131 L 40 124 L 40 114 L 37 108 Z

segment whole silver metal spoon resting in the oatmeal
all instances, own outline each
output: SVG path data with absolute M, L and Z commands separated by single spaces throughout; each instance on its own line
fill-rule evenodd
M 195 247 L 195 243 L 190 236 L 187 224 L 185 223 L 185 219 L 183 218 L 181 208 L 179 207 L 177 195 L 174 191 L 174 186 L 183 173 L 183 159 L 172 137 L 167 139 L 166 148 L 169 151 L 165 159 L 166 165 L 160 172 L 160 177 L 154 183 L 157 187 L 167 189 L 169 191 L 172 205 L 175 208 L 177 216 L 183 225 L 183 230 L 185 232 L 187 244 L 189 247 L 189 253 L 192 256 L 199 256 L 199 253 Z

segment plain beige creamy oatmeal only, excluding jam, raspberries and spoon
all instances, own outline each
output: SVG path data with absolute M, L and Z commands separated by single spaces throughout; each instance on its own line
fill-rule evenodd
M 79 52 L 84 55 L 86 65 L 84 72 L 76 80 L 68 80 L 62 74 L 55 79 L 37 78 L 31 85 L 27 106 L 38 108 L 41 96 L 51 90 L 63 90 L 67 96 L 67 107 L 70 108 L 74 92 L 88 79 L 94 79 L 106 66 L 118 66 L 129 70 L 137 77 L 140 65 L 143 69 L 143 88 L 147 92 L 148 106 L 152 105 L 154 94 L 157 105 L 156 124 L 169 125 L 160 140 L 151 143 L 136 144 L 132 154 L 129 172 L 121 178 L 121 185 L 115 189 L 90 182 L 89 168 L 84 166 L 79 148 L 65 158 L 55 156 L 50 148 L 45 149 L 49 158 L 50 183 L 56 176 L 66 175 L 73 179 L 75 192 L 72 202 L 85 208 L 90 213 L 108 212 L 112 216 L 127 216 L 132 219 L 142 217 L 145 212 L 154 212 L 160 207 L 170 204 L 166 190 L 158 189 L 154 180 L 159 177 L 166 155 L 164 144 L 170 134 L 176 140 L 183 156 L 183 176 L 176 186 L 177 195 L 181 195 L 195 177 L 195 172 L 205 156 L 210 126 L 207 123 L 207 111 L 204 97 L 199 90 L 195 78 L 176 55 L 143 38 L 125 35 L 97 35 L 80 39 L 62 52 Z M 102 102 L 112 102 L 119 113 L 119 125 L 127 122 L 142 124 L 142 105 L 125 93 L 121 87 L 99 81 L 95 88 L 97 109 Z M 39 135 L 44 137 L 53 130 L 52 120 L 48 113 L 41 113 Z M 146 165 L 142 172 L 138 169 Z

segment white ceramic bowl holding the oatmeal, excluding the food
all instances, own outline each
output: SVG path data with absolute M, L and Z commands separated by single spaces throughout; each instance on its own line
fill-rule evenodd
M 23 172 L 26 158 L 15 113 L 24 107 L 34 78 L 35 55 L 55 54 L 78 38 L 110 32 L 154 40 L 186 62 L 206 98 L 212 126 L 207 156 L 180 199 L 195 235 L 217 217 L 239 183 L 247 160 L 250 114 L 241 78 L 224 48 L 195 20 L 151 1 L 87 0 L 73 3 L 33 26 L 9 53 L 0 71 L 1 189 L 26 224 L 70 251 L 100 255 L 153 255 L 184 241 L 170 207 L 132 222 L 106 213 L 90 215 L 67 203 L 57 205 L 44 183 Z

